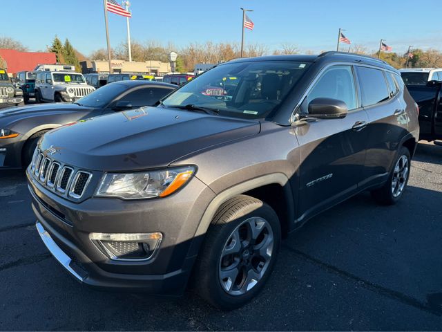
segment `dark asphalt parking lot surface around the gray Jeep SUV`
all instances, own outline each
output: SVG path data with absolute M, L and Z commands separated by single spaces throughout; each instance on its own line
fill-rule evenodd
M 92 291 L 35 231 L 23 172 L 0 174 L 0 330 L 441 330 L 442 147 L 419 144 L 403 200 L 363 193 L 283 241 L 260 296 L 222 312 Z

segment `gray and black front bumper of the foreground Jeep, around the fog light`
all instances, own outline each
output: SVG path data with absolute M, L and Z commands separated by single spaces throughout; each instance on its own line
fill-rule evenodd
M 198 178 L 165 199 L 131 202 L 91 198 L 73 203 L 27 175 L 40 237 L 77 281 L 111 291 L 157 295 L 180 295 L 184 291 L 195 261 L 195 253 L 189 248 L 195 241 L 198 215 L 204 213 L 204 208 L 193 201 L 194 195 L 202 195 L 203 201 L 212 199 L 211 190 Z M 90 240 L 93 232 L 161 232 L 163 239 L 152 259 L 115 261 Z

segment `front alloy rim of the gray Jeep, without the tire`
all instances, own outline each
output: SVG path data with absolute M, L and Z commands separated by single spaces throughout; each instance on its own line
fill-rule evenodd
M 218 275 L 229 295 L 251 290 L 269 267 L 273 253 L 273 231 L 268 221 L 251 217 L 238 225 L 224 244 Z

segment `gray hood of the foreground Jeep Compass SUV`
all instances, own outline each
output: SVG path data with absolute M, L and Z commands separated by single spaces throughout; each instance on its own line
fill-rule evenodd
M 164 167 L 259 131 L 258 121 L 142 107 L 66 124 L 46 133 L 40 148 L 61 163 L 83 169 L 126 171 Z

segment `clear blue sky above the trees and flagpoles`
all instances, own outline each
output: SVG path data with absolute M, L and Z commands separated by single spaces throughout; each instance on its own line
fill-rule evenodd
M 119 2 L 121 0 L 118 0 Z M 19 7 L 17 4 L 19 3 Z M 301 50 L 336 48 L 338 28 L 369 50 L 387 40 L 394 51 L 409 45 L 442 49 L 442 0 L 131 0 L 131 35 L 144 42 L 240 42 L 240 7 L 251 8 L 255 29 L 246 43 L 282 43 Z M 102 0 L 1 1 L 0 35 L 30 50 L 44 50 L 55 34 L 85 55 L 106 47 Z M 6 15 L 5 15 L 6 14 Z M 126 39 L 126 19 L 109 13 L 111 45 Z

